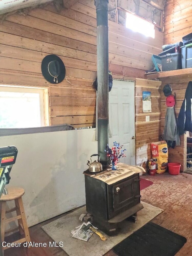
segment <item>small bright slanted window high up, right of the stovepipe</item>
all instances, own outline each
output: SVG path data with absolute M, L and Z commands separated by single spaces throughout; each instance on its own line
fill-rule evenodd
M 126 14 L 126 27 L 135 32 L 139 32 L 143 35 L 155 38 L 155 27 L 154 24 L 149 21 L 143 20 L 134 14 Z

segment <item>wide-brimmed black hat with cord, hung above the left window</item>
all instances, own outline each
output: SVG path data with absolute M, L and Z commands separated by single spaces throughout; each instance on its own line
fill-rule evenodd
M 49 83 L 61 83 L 65 78 L 65 65 L 57 55 L 47 55 L 42 60 L 41 71 Z

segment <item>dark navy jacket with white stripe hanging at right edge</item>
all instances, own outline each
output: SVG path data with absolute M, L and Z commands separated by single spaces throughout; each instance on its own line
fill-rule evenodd
M 182 103 L 179 116 L 178 116 L 179 135 L 184 134 L 184 131 L 192 132 L 191 99 L 192 99 L 192 82 L 190 81 L 187 85 L 185 98 Z

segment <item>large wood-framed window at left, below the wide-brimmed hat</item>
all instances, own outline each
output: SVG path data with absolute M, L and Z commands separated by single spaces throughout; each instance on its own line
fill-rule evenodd
M 0 128 L 49 125 L 48 89 L 0 86 Z

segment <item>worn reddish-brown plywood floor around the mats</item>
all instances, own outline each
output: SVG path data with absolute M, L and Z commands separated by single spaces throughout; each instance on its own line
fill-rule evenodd
M 142 201 L 164 209 L 164 212 L 155 217 L 153 222 L 185 236 L 187 238 L 187 243 L 181 248 L 176 256 L 190 256 L 192 251 L 192 175 L 188 173 L 181 173 L 180 175 L 164 173 L 149 176 L 146 174 L 145 176 L 142 176 L 142 178 L 154 182 L 153 185 L 141 191 Z M 46 242 L 47 244 L 49 241 L 52 242 L 52 239 L 50 239 L 50 237 L 41 229 L 41 226 L 56 218 L 60 218 L 63 215 L 30 227 L 29 232 L 31 240 L 35 242 Z M 14 236 L 16 238 L 17 234 Z M 11 236 L 9 240 L 13 238 L 14 237 Z M 4 252 L 4 256 L 44 255 L 67 256 L 61 248 L 51 247 L 29 249 L 23 247 L 10 248 Z M 116 254 L 113 251 L 109 251 L 105 256 L 116 256 Z

